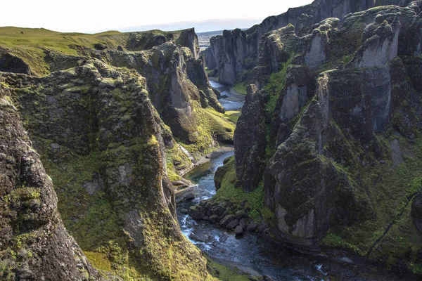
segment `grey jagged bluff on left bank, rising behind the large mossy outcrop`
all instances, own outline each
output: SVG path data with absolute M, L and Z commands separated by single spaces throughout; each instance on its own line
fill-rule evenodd
M 224 108 L 212 91 L 203 60 L 196 60 L 190 49 L 168 42 L 149 51 L 108 51 L 98 57 L 146 77 L 153 105 L 174 136 L 187 144 L 214 145 L 211 136 L 204 140 L 198 134 L 200 120 L 195 111 L 208 105 L 218 112 Z

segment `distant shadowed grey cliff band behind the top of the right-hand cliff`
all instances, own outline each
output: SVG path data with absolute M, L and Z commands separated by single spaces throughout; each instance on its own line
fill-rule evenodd
M 222 36 L 210 39 L 210 48 L 205 51 L 206 64 L 210 69 L 217 68 L 219 81 L 233 85 L 245 81 L 245 70 L 250 63 L 257 63 L 260 55 L 262 35 L 291 24 L 295 33 L 303 36 L 312 31 L 312 25 L 326 18 L 338 18 L 343 22 L 345 15 L 364 11 L 375 6 L 407 6 L 410 1 L 360 1 L 360 0 L 316 0 L 307 6 L 289 8 L 286 13 L 266 18 L 260 25 L 248 30 L 225 30 Z

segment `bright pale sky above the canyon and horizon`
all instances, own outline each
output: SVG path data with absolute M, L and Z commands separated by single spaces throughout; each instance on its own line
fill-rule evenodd
M 0 26 L 58 32 L 181 30 L 196 32 L 251 27 L 269 15 L 312 0 L 1 0 Z

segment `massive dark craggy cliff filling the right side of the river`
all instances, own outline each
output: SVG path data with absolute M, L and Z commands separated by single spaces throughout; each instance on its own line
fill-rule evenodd
M 421 8 L 372 8 L 302 37 L 293 25 L 262 37 L 234 136 L 236 185 L 263 185 L 281 240 L 417 272 Z

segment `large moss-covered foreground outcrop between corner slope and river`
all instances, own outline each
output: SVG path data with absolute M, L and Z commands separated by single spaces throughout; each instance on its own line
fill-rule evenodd
M 44 78 L 2 77 L 56 183 L 65 226 L 89 257 L 110 265 L 101 269 L 206 279 L 205 260 L 175 219 L 166 150 L 178 146 L 146 79 L 96 59 Z

